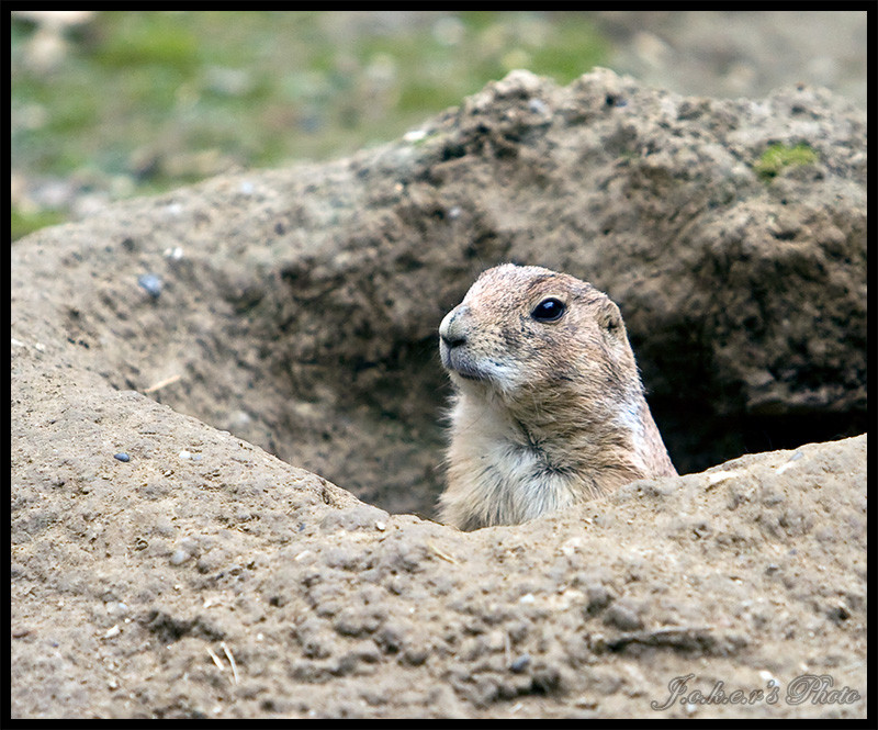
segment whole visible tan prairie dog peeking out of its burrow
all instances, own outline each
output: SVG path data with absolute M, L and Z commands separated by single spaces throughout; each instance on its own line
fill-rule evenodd
M 676 475 L 619 308 L 565 273 L 483 272 L 439 327 L 454 386 L 440 519 L 515 525 Z

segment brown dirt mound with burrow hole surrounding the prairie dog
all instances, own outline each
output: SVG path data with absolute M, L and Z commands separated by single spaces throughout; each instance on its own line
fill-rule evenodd
M 16 243 L 13 715 L 865 715 L 865 436 L 517 528 L 402 514 L 441 487 L 436 327 L 500 260 L 620 304 L 680 471 L 865 430 L 865 169 L 820 90 L 515 72 Z M 650 707 L 690 673 L 781 699 Z M 858 699 L 785 701 L 811 674 Z

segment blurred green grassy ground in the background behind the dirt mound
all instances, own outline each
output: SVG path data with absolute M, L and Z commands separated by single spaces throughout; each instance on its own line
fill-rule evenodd
M 13 239 L 76 216 L 83 193 L 340 157 L 513 68 L 566 83 L 609 55 L 573 12 L 99 12 L 55 64 L 35 60 L 38 32 L 13 18 Z

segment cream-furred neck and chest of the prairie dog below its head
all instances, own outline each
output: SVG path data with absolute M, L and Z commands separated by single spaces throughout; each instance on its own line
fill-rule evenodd
M 565 419 L 558 407 L 509 407 L 479 384 L 462 384 L 451 411 L 455 490 L 443 495 L 444 518 L 461 529 L 518 524 L 640 478 L 648 464 L 638 400 L 631 394 L 630 406 L 614 414 Z

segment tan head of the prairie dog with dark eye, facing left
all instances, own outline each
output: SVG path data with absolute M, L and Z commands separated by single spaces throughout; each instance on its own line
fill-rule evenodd
M 616 304 L 541 267 L 506 263 L 482 273 L 442 319 L 439 336 L 454 386 L 474 396 L 511 404 L 594 392 L 618 404 L 632 388 L 641 391 Z

